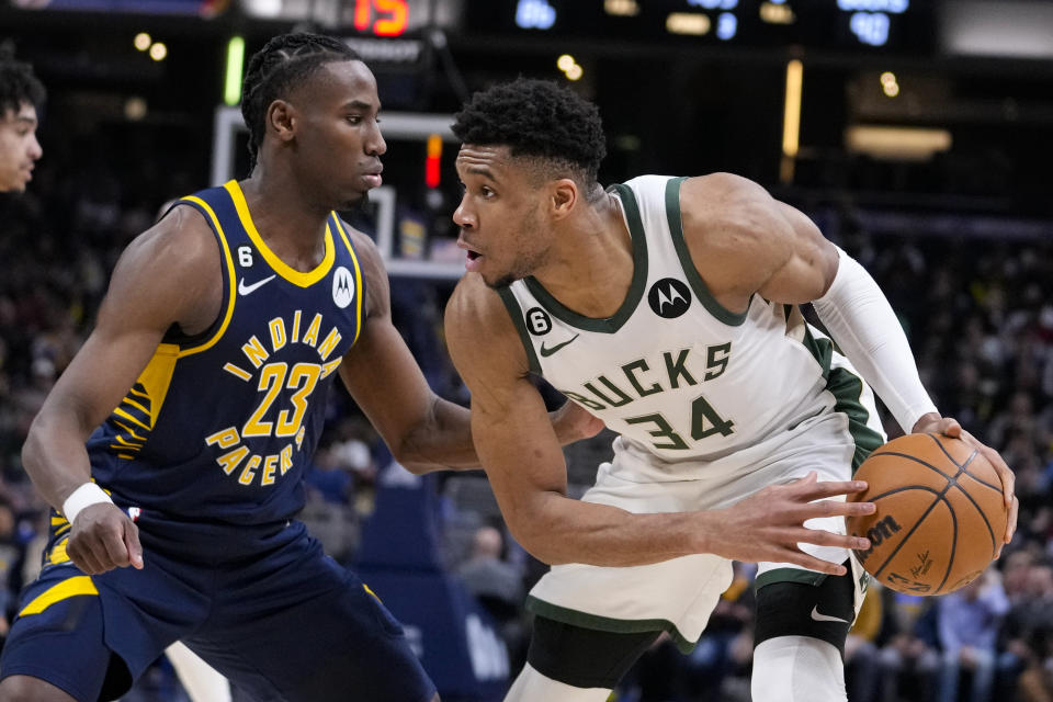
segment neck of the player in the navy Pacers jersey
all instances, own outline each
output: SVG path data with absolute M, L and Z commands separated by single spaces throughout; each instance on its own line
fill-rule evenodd
M 263 178 L 259 167 L 240 185 L 252 224 L 267 246 L 294 270 L 314 270 L 325 257 L 329 211 L 308 202 L 295 185 Z

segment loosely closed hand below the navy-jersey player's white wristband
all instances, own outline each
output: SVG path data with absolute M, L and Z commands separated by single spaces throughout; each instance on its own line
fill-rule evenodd
M 139 528 L 109 502 L 89 505 L 77 514 L 66 553 L 88 575 L 127 566 L 143 569 Z

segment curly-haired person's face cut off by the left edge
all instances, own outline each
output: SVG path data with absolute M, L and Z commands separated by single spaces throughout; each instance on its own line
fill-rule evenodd
M 44 86 L 29 64 L 0 52 L 0 192 L 24 192 L 44 154 L 36 139 L 36 111 Z

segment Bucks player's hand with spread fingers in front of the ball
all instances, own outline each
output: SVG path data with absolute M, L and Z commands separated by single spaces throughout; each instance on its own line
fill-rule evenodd
M 770 485 L 743 501 L 718 510 L 721 528 L 713 536 L 712 553 L 735 561 L 792 563 L 829 575 L 845 575 L 845 567 L 811 556 L 799 543 L 849 550 L 870 548 L 870 541 L 804 525 L 809 519 L 872 514 L 873 502 L 829 499 L 867 489 L 862 480 L 819 482 L 813 472 L 786 485 Z

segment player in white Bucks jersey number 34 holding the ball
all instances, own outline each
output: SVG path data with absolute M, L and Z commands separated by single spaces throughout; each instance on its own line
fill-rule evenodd
M 446 337 L 508 524 L 553 564 L 507 699 L 600 702 L 661 631 L 690 650 L 738 559 L 759 563 L 755 702 L 845 700 L 865 584 L 849 552 L 870 544 L 843 518 L 873 505 L 843 496 L 885 440 L 870 387 L 904 431 L 961 437 L 994 463 L 1007 542 L 1012 473 L 938 414 L 869 274 L 756 183 L 604 191 L 596 107 L 543 81 L 477 93 L 453 129 L 468 274 Z M 531 373 L 621 434 L 580 501 Z

